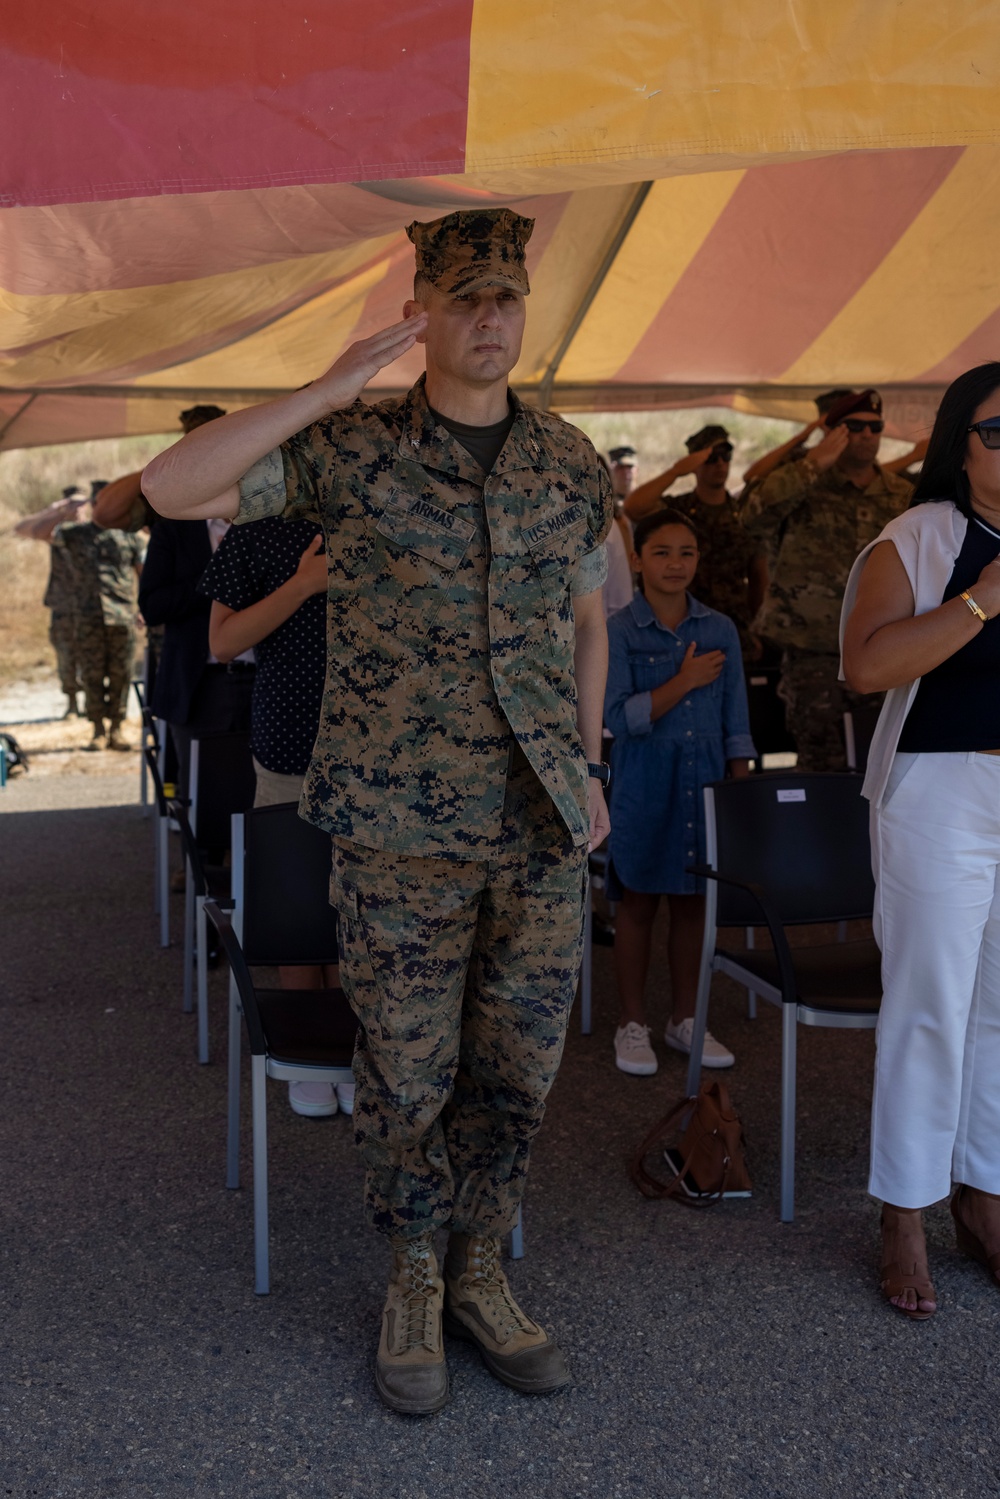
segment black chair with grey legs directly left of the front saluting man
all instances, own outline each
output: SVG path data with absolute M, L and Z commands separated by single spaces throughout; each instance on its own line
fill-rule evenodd
M 357 1021 L 343 989 L 261 989 L 256 967 L 337 961 L 330 905 L 330 835 L 298 817 L 297 803 L 232 817 L 234 917 L 205 902 L 229 961 L 229 1103 L 226 1186 L 240 1186 L 240 1012 L 252 1057 L 253 1243 L 256 1291 L 268 1291 L 267 1078 L 351 1082 Z

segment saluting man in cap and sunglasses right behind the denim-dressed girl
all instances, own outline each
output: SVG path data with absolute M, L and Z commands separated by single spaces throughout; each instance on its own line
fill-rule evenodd
M 640 520 L 669 504 L 670 510 L 688 517 L 699 538 L 694 592 L 709 609 L 729 615 L 739 630 L 744 655 L 751 660 L 760 654 L 750 625 L 768 592 L 768 558 L 760 541 L 747 534 L 726 489 L 733 444 L 726 427 L 714 424 L 693 433 L 684 445 L 688 457 L 634 489 L 625 501 L 625 514 Z M 687 495 L 667 495 L 684 474 L 694 474 L 694 489 Z

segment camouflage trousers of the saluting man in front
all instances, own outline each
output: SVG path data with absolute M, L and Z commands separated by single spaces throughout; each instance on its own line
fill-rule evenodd
M 481 862 L 334 838 L 354 1126 L 382 1234 L 513 1228 L 576 994 L 586 878 L 568 836 Z

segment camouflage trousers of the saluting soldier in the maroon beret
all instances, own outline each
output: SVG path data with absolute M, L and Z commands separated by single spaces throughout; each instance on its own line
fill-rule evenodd
M 882 708 L 882 693 L 852 693 L 838 673 L 838 655 L 787 648 L 781 657 L 778 697 L 786 705 L 799 770 L 846 770 L 844 714 L 870 720 Z

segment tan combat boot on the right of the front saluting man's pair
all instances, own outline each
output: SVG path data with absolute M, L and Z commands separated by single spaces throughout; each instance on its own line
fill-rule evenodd
M 453 1234 L 444 1262 L 445 1333 L 475 1343 L 496 1379 L 528 1396 L 570 1384 L 565 1358 L 514 1301 L 498 1238 Z

